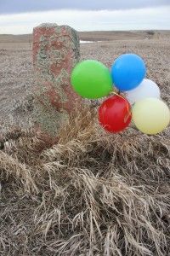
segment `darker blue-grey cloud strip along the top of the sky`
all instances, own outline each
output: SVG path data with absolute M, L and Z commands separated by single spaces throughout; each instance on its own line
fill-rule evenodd
M 0 0 L 0 14 L 54 9 L 144 9 L 169 5 L 169 0 Z

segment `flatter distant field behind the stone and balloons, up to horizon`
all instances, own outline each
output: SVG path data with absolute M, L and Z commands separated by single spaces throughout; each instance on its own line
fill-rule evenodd
M 161 35 L 159 39 L 156 33 Z M 149 35 L 150 39 L 146 38 L 147 32 L 94 32 L 94 34 L 82 32 L 82 34 L 81 39 L 95 40 L 97 37 L 100 41 L 105 37 L 109 40 L 81 44 L 82 59 L 96 59 L 111 67 L 118 55 L 126 52 L 139 54 L 147 64 L 148 78 L 154 79 L 161 86 L 162 96 L 167 100 L 165 90 L 169 92 L 170 32 L 155 32 L 154 35 Z M 111 41 L 111 38 L 115 40 Z M 5 120 L 5 123 L 14 121 L 27 124 L 26 114 L 22 113 L 22 108 L 29 108 L 31 102 L 30 97 L 29 100 L 25 100 L 25 97 L 31 94 L 35 83 L 32 74 L 31 36 L 0 35 L 0 119 Z

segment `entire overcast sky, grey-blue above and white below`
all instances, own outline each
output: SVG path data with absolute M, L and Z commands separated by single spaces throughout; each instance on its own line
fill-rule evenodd
M 0 33 L 44 22 L 77 30 L 170 29 L 170 0 L 0 0 Z

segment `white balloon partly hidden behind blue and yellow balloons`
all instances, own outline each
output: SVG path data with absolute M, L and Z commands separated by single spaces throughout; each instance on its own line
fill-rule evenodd
M 138 87 L 125 92 L 128 102 L 133 104 L 144 98 L 161 98 L 161 92 L 155 82 L 150 79 L 144 79 Z

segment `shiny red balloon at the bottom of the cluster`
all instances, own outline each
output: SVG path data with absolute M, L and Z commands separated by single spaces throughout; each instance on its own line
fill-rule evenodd
M 122 131 L 130 124 L 131 119 L 130 104 L 122 96 L 111 96 L 99 107 L 99 123 L 106 131 Z

